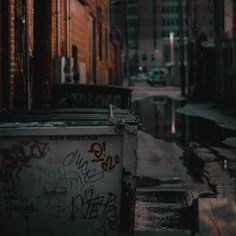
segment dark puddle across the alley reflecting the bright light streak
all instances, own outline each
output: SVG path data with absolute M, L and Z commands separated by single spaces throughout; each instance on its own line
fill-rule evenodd
M 133 107 L 141 119 L 143 131 L 181 146 L 193 141 L 206 146 L 222 146 L 224 139 L 236 136 L 236 131 L 219 127 L 213 121 L 176 112 L 184 105 L 183 100 L 157 96 L 136 101 Z

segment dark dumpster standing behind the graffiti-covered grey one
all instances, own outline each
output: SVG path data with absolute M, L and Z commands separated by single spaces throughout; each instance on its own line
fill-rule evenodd
M 132 90 L 120 86 L 60 84 L 52 89 L 52 107 L 107 108 L 112 104 L 131 109 Z

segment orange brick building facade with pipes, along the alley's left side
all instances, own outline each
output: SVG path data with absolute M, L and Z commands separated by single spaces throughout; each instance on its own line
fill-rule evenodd
M 8 0 L 0 13 L 1 108 L 49 104 L 59 72 L 71 83 L 109 83 L 108 0 Z

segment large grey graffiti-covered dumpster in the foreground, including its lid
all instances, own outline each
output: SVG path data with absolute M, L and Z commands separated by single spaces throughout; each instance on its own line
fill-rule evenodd
M 129 110 L 0 114 L 1 235 L 132 235 L 136 148 Z

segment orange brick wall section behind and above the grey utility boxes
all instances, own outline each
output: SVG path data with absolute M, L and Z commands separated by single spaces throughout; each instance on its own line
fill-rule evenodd
M 89 17 L 95 20 L 96 56 L 99 52 L 98 45 L 98 23 L 102 25 L 102 60 L 96 57 L 96 83 L 107 84 L 107 34 L 108 34 L 108 0 L 88 1 L 83 5 L 78 0 L 69 1 L 68 18 L 66 17 L 66 1 L 60 1 L 60 23 L 57 23 L 57 1 L 52 5 L 52 59 L 57 56 L 72 56 L 72 46 L 78 48 L 78 65 L 85 64 L 87 78 L 83 83 L 89 82 L 90 68 L 90 34 Z M 101 9 L 100 13 L 99 10 Z M 59 26 L 59 28 L 58 28 Z M 69 27 L 69 38 L 66 38 L 66 27 Z M 59 29 L 59 50 L 58 50 L 58 29 Z

